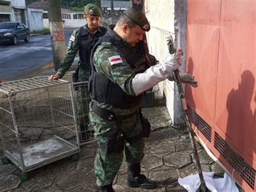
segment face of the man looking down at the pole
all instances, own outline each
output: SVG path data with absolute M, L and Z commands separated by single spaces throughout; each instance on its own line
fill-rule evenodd
M 131 47 L 134 47 L 139 41 L 143 40 L 143 34 L 145 34 L 145 31 L 143 31 L 138 25 L 133 28 L 127 26 L 125 31 L 125 40 L 129 42 Z

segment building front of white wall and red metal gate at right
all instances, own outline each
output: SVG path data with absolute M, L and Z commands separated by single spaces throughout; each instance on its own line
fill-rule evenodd
M 156 8 L 157 5 L 157 8 Z M 150 52 L 161 60 L 173 35 L 183 49 L 181 72 L 192 129 L 213 159 L 245 191 L 256 189 L 255 1 L 144 1 Z M 176 83 L 159 83 L 173 124 L 182 123 Z

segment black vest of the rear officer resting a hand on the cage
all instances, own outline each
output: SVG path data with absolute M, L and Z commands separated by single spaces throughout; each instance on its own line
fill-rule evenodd
M 80 40 L 79 40 L 79 58 L 80 58 L 80 65 L 79 67 L 83 69 L 90 69 L 90 51 L 91 45 L 98 39 L 102 37 L 105 32 L 105 27 L 99 27 L 100 31 L 97 31 L 95 34 L 91 34 L 89 31 L 85 29 L 84 26 L 79 28 Z

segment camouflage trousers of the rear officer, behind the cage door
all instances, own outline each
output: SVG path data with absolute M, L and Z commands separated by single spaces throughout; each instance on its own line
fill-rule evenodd
M 78 70 L 78 81 L 88 81 L 90 72 L 79 68 Z M 88 91 L 87 85 L 81 84 L 78 86 L 77 90 L 77 117 L 79 126 L 87 127 L 89 124 L 89 104 L 91 102 L 90 93 Z

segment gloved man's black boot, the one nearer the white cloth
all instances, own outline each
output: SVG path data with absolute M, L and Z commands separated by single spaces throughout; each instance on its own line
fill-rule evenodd
M 147 179 L 145 175 L 140 174 L 140 163 L 128 164 L 127 172 L 127 186 L 129 187 L 141 187 L 144 189 L 154 189 L 157 187 L 157 183 Z

